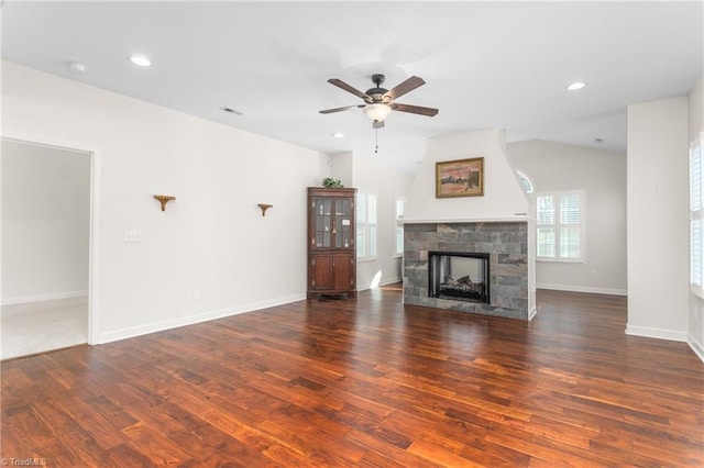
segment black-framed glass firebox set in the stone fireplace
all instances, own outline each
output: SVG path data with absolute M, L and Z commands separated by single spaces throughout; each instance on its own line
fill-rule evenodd
M 431 298 L 490 303 L 490 254 L 428 252 Z

